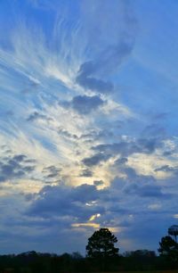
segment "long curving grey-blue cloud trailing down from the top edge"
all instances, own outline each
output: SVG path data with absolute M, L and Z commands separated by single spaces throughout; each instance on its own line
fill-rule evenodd
M 93 10 L 91 6 L 94 6 Z M 85 27 L 89 28 L 90 44 L 95 54 L 89 61 L 80 65 L 76 80 L 81 87 L 100 94 L 114 90 L 113 84 L 106 77 L 117 70 L 134 48 L 136 21 L 132 9 L 128 6 L 129 4 L 123 1 L 119 4 L 112 1 L 110 16 L 109 2 L 99 1 L 93 4 L 85 2 Z M 98 21 L 101 12 L 104 13 L 104 21 Z M 87 21 L 89 18 L 90 22 Z M 96 29 L 100 35 L 97 35 Z

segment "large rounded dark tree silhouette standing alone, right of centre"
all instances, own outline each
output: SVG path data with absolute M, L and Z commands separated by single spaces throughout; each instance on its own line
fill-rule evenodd
M 112 258 L 118 254 L 118 248 L 114 246 L 117 237 L 108 228 L 101 228 L 93 233 L 86 245 L 86 255 L 90 258 Z

